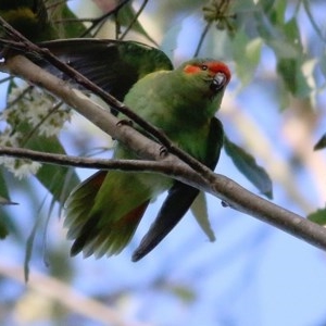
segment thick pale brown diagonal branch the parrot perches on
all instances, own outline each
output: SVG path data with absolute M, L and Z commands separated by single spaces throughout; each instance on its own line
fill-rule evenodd
M 126 143 L 139 156 L 156 161 L 151 163 L 129 162 L 129 165 L 125 167 L 123 167 L 123 165 L 110 166 L 110 164 L 113 165 L 113 163 L 109 163 L 108 168 L 118 167 L 125 170 L 129 168 L 130 171 L 130 168 L 139 168 L 139 164 L 143 164 L 146 165 L 143 167 L 149 172 L 162 173 L 197 187 L 202 191 L 208 191 L 239 212 L 267 222 L 290 235 L 326 250 L 326 229 L 324 227 L 251 193 L 223 175 L 214 174 L 210 171 L 205 171 L 204 174 L 199 174 L 174 154 L 168 153 L 162 156 L 161 146 L 159 143 L 145 137 L 128 125 L 118 124 L 118 120 L 108 110 L 104 110 L 92 102 L 80 91 L 62 83 L 62 80 L 58 79 L 55 76 L 42 71 L 26 58 L 22 55 L 13 57 L 5 62 L 5 66 L 2 66 L 2 70 L 7 70 L 13 75 L 21 76 L 25 80 L 59 97 L 103 131 Z M 2 151 L 2 154 L 4 152 Z M 7 154 L 10 153 L 7 152 Z M 11 154 L 14 155 L 14 153 Z M 33 154 L 36 153 L 34 152 Z M 36 160 L 38 158 L 35 155 L 34 159 Z M 42 161 L 42 158 L 39 159 Z M 55 161 L 54 156 L 52 156 L 51 160 L 51 163 L 53 164 L 60 163 L 60 160 Z M 65 164 L 67 162 L 65 162 Z M 101 164 L 103 162 L 101 162 Z M 78 166 L 83 166 L 82 163 Z M 99 165 L 95 165 L 95 168 L 99 168 Z

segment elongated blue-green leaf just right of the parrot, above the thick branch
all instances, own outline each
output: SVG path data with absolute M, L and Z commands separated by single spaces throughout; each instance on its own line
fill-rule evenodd
M 237 168 L 268 199 L 273 198 L 273 185 L 265 170 L 259 166 L 252 155 L 224 137 L 225 152 L 230 156 Z

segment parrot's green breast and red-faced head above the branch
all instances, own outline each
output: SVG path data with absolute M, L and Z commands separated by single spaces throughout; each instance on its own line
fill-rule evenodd
M 217 71 L 202 71 L 200 65 L 185 64 L 175 71 L 149 74 L 134 85 L 124 102 L 181 149 L 202 160 L 208 126 L 229 80 L 226 65 L 213 65 L 216 66 Z

